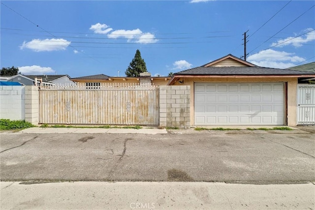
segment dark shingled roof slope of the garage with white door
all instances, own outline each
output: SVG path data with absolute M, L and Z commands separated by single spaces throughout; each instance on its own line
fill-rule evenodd
M 174 75 L 307 75 L 312 72 L 300 72 L 288 69 L 265 67 L 196 67 L 177 72 Z

